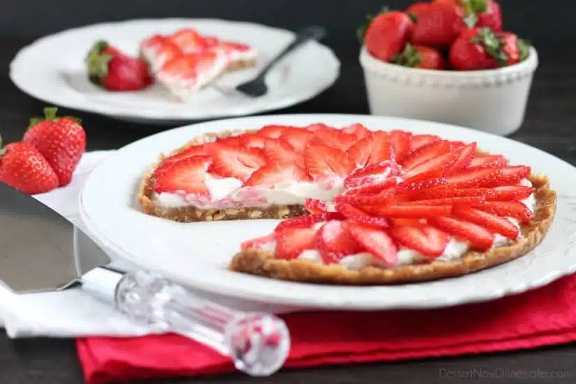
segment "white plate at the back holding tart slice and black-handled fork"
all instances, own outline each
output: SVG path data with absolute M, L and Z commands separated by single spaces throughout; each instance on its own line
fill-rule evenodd
M 208 87 L 181 103 L 159 84 L 144 91 L 117 93 L 88 81 L 84 57 L 96 40 L 105 39 L 129 54 L 138 54 L 138 44 L 147 36 L 170 34 L 182 28 L 195 28 L 202 34 L 236 40 L 258 50 L 258 65 L 224 75 L 218 82 L 221 87 L 251 80 L 295 36 L 285 29 L 227 20 L 158 19 L 94 24 L 46 36 L 22 48 L 10 63 L 10 79 L 30 96 L 54 105 L 117 119 L 173 124 L 287 108 L 320 94 L 339 75 L 340 62 L 332 50 L 311 41 L 269 73 L 269 92 L 260 98 L 223 96 Z

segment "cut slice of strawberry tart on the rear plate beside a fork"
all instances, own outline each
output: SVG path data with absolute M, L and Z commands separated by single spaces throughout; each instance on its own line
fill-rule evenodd
M 140 56 L 158 82 L 186 101 L 224 73 L 255 66 L 257 53 L 246 44 L 181 29 L 172 35 L 146 38 L 140 43 Z

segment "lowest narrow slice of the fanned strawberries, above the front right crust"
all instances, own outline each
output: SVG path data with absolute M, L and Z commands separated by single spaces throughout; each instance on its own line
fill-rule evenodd
M 489 230 L 477 226 L 468 221 L 454 219 L 452 217 L 431 217 L 427 219 L 431 226 L 450 233 L 459 239 L 468 241 L 472 248 L 485 251 L 494 244 L 494 235 Z

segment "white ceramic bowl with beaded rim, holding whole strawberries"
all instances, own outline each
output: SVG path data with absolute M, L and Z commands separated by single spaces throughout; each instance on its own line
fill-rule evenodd
M 380 61 L 365 47 L 360 64 L 372 115 L 409 117 L 509 135 L 524 121 L 538 52 L 488 71 L 432 71 Z

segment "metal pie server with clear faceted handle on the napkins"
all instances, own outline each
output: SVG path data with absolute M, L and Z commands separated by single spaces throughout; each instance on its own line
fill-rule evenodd
M 273 374 L 286 361 L 290 334 L 280 318 L 224 307 L 158 274 L 123 272 L 104 252 L 77 268 L 73 228 L 47 205 L 0 182 L 0 281 L 20 295 L 81 286 L 131 320 L 214 348 L 251 376 Z

